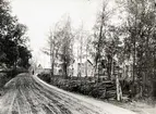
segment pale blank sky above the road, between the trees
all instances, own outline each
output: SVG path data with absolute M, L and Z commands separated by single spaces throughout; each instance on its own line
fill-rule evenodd
M 20 23 L 28 27 L 33 55 L 44 67 L 49 66 L 49 58 L 40 52 L 46 47 L 47 35 L 64 14 L 70 15 L 76 28 L 82 23 L 86 30 L 95 24 L 103 0 L 11 0 L 12 11 Z

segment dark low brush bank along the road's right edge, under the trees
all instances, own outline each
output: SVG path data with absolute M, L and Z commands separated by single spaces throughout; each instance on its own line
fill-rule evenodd
M 50 85 L 67 91 L 82 93 L 99 99 L 109 99 L 116 97 L 115 83 L 93 83 L 88 79 L 82 80 L 79 78 L 64 79 L 61 76 L 52 76 L 50 78 L 50 75 L 45 73 L 39 74 L 38 77 L 47 83 L 51 80 L 49 83 Z

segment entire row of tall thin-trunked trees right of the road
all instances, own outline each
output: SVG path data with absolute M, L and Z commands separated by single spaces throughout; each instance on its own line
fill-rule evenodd
M 116 15 L 120 23 L 113 23 Z M 69 18 L 59 22 L 49 34 L 49 48 L 44 49 L 50 55 L 51 76 L 61 66 L 68 78 L 74 61 L 92 59 L 97 83 L 101 74 L 108 80 L 119 77 L 122 86 L 124 80 L 130 81 L 131 92 L 137 98 L 152 97 L 155 91 L 155 51 L 156 3 L 152 0 L 117 0 L 112 9 L 105 1 L 93 33 L 85 31 L 83 25 L 73 29 Z

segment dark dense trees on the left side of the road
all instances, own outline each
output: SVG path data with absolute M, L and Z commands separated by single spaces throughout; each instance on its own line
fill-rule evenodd
M 10 3 L 0 0 L 0 74 L 14 71 L 9 74 L 15 76 L 17 68 L 27 69 L 32 53 L 26 46 L 26 26 L 19 23 L 12 15 Z M 3 78 L 3 77 L 2 77 Z

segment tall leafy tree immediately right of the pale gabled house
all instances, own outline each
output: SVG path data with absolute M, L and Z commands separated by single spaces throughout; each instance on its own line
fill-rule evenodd
M 97 23 L 94 27 L 95 39 L 93 46 L 96 51 L 93 58 L 96 65 L 95 73 L 98 75 L 98 78 L 100 71 L 106 68 L 107 73 L 103 72 L 103 75 L 107 74 L 108 79 L 111 79 L 115 72 L 115 64 L 118 63 L 119 65 L 122 42 L 120 40 L 120 27 L 110 24 L 113 11 L 108 11 L 107 8 L 107 2 L 104 2 L 103 11 L 97 17 Z

